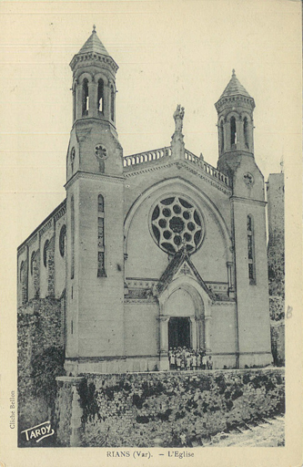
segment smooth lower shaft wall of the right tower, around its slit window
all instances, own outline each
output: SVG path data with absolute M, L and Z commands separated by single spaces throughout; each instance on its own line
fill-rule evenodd
M 250 284 L 247 265 L 247 214 L 254 220 L 255 283 Z M 258 203 L 235 202 L 235 243 L 237 265 L 237 315 L 239 350 L 247 352 L 242 364 L 270 363 L 270 327 L 268 305 L 268 265 L 266 258 L 266 225 L 264 206 Z M 249 352 L 260 355 L 254 361 Z

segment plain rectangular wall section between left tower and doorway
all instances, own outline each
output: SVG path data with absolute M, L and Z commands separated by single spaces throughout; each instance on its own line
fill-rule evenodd
M 126 356 L 157 356 L 158 313 L 157 303 L 126 302 Z

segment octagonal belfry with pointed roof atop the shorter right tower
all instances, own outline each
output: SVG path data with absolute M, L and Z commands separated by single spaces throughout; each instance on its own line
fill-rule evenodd
M 215 107 L 219 155 L 217 168 L 230 175 L 230 171 L 237 167 L 239 156 L 254 157 L 255 100 L 241 85 L 234 69 Z

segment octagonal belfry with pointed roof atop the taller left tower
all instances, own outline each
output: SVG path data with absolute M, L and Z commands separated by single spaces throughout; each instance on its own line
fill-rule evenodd
M 66 161 L 67 181 L 78 170 L 122 174 L 122 148 L 116 133 L 118 66 L 96 35 L 96 26 L 70 67 L 73 128 Z

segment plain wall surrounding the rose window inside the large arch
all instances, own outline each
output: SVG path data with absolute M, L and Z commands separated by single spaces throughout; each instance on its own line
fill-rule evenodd
M 126 277 L 158 278 L 167 268 L 167 253 L 155 243 L 149 231 L 150 215 L 154 204 L 172 193 L 191 199 L 201 211 L 205 223 L 205 237 L 197 253 L 191 256 L 199 274 L 206 281 L 227 282 L 227 251 L 220 227 L 214 214 L 197 193 L 178 180 L 164 185 L 143 201 L 131 220 L 126 238 Z M 230 211 L 229 203 L 227 209 Z

